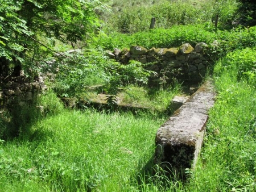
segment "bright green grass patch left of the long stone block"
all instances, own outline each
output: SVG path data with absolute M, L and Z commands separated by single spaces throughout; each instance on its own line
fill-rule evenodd
M 49 116 L 1 145 L 0 189 L 129 191 L 163 120 L 89 110 Z

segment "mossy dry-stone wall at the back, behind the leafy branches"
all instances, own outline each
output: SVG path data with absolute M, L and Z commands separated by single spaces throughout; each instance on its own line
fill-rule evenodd
M 212 62 L 206 54 L 208 45 L 198 43 L 193 48 L 185 43 L 177 48 L 151 48 L 132 46 L 130 49 L 114 49 L 106 51 L 106 55 L 121 64 L 135 60 L 146 64 L 145 68 L 156 72 L 157 76 L 150 78 L 151 83 L 173 80 L 185 82 L 200 82 Z

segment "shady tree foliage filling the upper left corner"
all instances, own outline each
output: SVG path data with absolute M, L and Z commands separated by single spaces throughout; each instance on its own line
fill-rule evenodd
M 0 74 L 10 73 L 11 65 L 14 75 L 19 75 L 22 66 L 32 68 L 43 45 L 40 36 L 51 39 L 52 45 L 55 39 L 72 45 L 85 40 L 99 26 L 94 8 L 101 5 L 98 1 L 1 0 Z

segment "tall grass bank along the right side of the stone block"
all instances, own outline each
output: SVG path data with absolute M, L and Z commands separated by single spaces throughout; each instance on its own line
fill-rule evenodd
M 239 50 L 215 67 L 218 97 L 209 114 L 203 152 L 191 175 L 191 191 L 256 190 L 255 81 L 248 81 L 240 68 L 243 58 L 243 67 L 251 70 L 255 63 L 246 58 L 254 56 L 254 49 Z

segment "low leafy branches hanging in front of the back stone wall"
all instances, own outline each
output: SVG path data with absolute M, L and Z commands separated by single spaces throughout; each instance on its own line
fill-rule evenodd
M 75 57 L 73 63 L 63 65 L 63 62 L 67 61 L 61 60 L 55 91 L 64 97 L 84 94 L 93 75 L 101 80 L 98 82 L 103 85 L 104 91 L 111 95 L 116 95 L 119 88 L 127 84 L 147 84 L 152 72 L 144 69 L 141 62 L 131 61 L 127 65 L 121 65 L 102 54 L 101 49 L 90 49 L 82 54 L 70 55 L 69 57 Z M 94 77 L 94 80 L 96 78 Z

